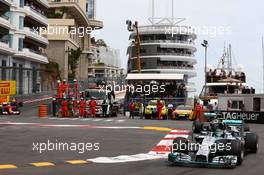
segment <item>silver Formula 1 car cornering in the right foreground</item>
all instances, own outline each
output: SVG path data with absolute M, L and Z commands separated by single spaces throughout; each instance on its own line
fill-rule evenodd
M 176 165 L 241 165 L 246 153 L 258 150 L 258 136 L 244 126 L 241 120 L 216 119 L 188 139 L 176 138 L 168 160 Z

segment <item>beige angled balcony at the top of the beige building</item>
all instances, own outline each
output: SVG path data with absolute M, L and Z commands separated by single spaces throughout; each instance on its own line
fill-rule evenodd
M 49 0 L 49 5 L 51 9 L 67 8 L 67 13 L 70 13 L 79 25 L 90 26 L 88 17 L 79 5 L 79 0 Z

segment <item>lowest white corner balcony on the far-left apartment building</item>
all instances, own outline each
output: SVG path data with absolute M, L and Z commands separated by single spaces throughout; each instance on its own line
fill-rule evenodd
M 47 56 L 40 52 L 31 50 L 29 48 L 23 48 L 22 51 L 18 51 L 14 57 L 24 58 L 32 62 L 38 62 L 41 64 L 49 63 Z

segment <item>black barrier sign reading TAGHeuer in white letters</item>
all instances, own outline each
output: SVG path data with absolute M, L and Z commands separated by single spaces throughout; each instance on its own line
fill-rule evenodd
M 264 112 L 254 111 L 220 111 L 226 120 L 244 120 L 246 123 L 264 124 Z

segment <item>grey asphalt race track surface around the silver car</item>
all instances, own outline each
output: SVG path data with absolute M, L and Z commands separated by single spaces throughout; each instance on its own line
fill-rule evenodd
M 37 118 L 37 105 L 25 106 L 21 116 L 0 117 L 0 123 L 39 123 L 51 125 L 91 125 L 91 126 L 122 126 L 122 127 L 169 127 L 191 128 L 188 121 L 150 121 L 126 119 L 125 117 L 106 120 L 55 120 Z M 119 155 L 134 155 L 149 152 L 166 134 L 165 131 L 143 129 L 102 129 L 80 127 L 41 127 L 27 125 L 0 125 L 0 165 L 18 165 L 15 169 L 0 169 L 0 175 L 134 175 L 134 174 L 175 174 L 175 175 L 260 175 L 264 165 L 264 127 L 250 125 L 251 130 L 259 135 L 259 152 L 245 157 L 243 165 L 235 169 L 216 169 L 199 167 L 171 166 L 166 159 L 147 160 L 129 163 L 87 163 L 70 165 L 67 160 L 86 160 L 96 157 L 113 157 Z M 40 154 L 33 151 L 33 142 L 47 140 L 62 142 L 100 143 L 99 151 L 87 151 L 79 154 L 75 151 L 51 151 Z M 54 166 L 33 167 L 32 162 L 54 162 Z

